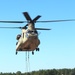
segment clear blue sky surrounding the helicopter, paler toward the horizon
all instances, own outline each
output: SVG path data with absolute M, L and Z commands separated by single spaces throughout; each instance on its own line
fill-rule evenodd
M 23 12 L 40 20 L 75 19 L 75 0 L 0 0 L 0 20 L 26 21 Z M 0 26 L 24 26 L 0 23 Z M 39 52 L 29 52 L 30 71 L 75 68 L 75 21 L 36 23 L 36 27 L 51 28 L 38 31 Z M 0 29 L 0 72 L 26 72 L 26 54 L 16 51 L 19 29 Z

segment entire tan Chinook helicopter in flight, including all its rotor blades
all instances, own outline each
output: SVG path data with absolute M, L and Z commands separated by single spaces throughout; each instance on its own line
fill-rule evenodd
M 50 21 L 37 21 L 41 16 L 38 15 L 34 19 L 31 19 L 28 12 L 23 12 L 27 21 L 0 21 L 1 23 L 25 23 L 27 24 L 24 27 L 0 27 L 0 28 L 19 28 L 22 30 L 21 34 L 18 34 L 16 39 L 16 54 L 18 51 L 32 51 L 34 54 L 34 50 L 39 51 L 40 40 L 38 38 L 37 30 L 51 30 L 47 28 L 35 28 L 36 22 L 64 22 L 64 21 L 75 21 L 75 19 L 66 19 L 66 20 L 50 20 Z

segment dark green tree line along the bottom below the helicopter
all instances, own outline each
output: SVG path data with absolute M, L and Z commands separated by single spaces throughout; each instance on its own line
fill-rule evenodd
M 2 73 L 0 75 L 75 75 L 74 69 L 48 69 L 48 70 L 39 70 L 32 71 L 27 73 L 21 73 L 21 71 L 17 71 L 16 73 Z

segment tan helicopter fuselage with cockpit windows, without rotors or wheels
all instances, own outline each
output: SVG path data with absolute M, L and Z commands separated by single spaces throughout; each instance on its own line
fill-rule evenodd
M 34 51 L 38 48 L 40 40 L 38 39 L 38 32 L 35 29 L 22 29 L 22 34 L 18 39 L 16 51 Z

